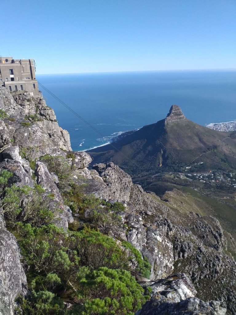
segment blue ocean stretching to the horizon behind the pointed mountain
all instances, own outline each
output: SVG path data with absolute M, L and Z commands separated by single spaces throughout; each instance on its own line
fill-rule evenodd
M 172 104 L 201 125 L 236 119 L 235 71 L 56 74 L 37 79 L 102 134 L 41 88 L 76 151 L 155 123 L 166 117 Z

